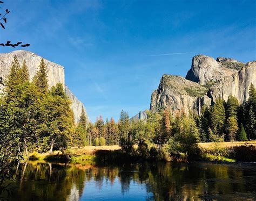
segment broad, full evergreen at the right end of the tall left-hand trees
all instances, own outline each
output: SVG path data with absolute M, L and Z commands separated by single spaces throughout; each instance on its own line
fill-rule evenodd
M 41 99 L 41 150 L 61 150 L 67 147 L 73 125 L 73 112 L 70 100 L 64 96 L 61 84 L 52 87 Z

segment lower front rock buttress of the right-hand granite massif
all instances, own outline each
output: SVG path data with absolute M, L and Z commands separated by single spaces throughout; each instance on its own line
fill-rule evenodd
M 158 89 L 152 93 L 150 110 L 156 112 L 169 107 L 173 114 L 178 110 L 199 112 L 198 106 L 211 102 L 206 94 L 207 88 L 196 82 L 181 76 L 163 75 Z

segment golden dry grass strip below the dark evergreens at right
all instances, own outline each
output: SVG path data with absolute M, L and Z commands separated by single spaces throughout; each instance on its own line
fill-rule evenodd
M 211 148 L 215 146 L 214 142 L 200 142 L 198 143 L 199 147 L 201 148 Z M 225 147 L 232 147 L 232 146 L 242 146 L 242 145 L 253 145 L 256 146 L 256 140 L 252 141 L 234 141 L 234 142 L 219 142 L 218 146 L 220 148 L 225 148 Z

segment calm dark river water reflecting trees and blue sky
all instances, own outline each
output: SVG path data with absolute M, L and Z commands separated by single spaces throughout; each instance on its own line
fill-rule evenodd
M 30 162 L 10 200 L 256 200 L 253 164 Z

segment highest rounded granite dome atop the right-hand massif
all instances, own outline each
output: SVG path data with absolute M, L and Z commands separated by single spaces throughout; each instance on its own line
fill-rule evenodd
M 228 62 L 234 63 L 232 60 L 229 60 Z M 221 78 L 230 76 L 238 71 L 225 67 L 228 66 L 228 64 L 223 63 L 225 63 L 224 60 L 218 62 L 210 56 L 194 56 L 192 59 L 191 69 L 188 70 L 186 79 L 204 85 L 216 82 Z

